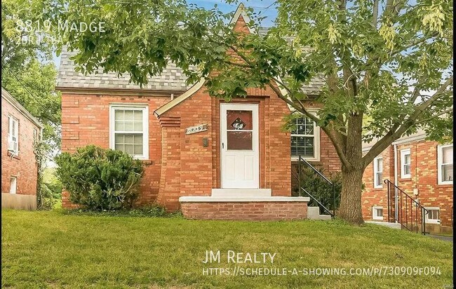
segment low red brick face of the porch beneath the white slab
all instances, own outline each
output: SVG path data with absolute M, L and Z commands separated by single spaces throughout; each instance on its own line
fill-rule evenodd
M 302 220 L 307 202 L 182 203 L 187 219 L 203 220 Z

